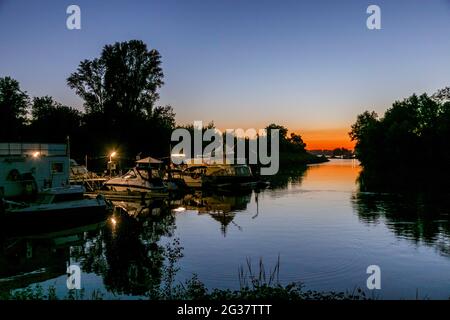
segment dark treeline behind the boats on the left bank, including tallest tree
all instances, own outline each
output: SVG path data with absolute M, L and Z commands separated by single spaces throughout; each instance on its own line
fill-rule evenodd
M 75 68 L 75 66 L 74 66 Z M 161 55 L 139 40 L 104 46 L 98 58 L 83 60 L 68 75 L 67 85 L 83 100 L 83 110 L 51 96 L 30 97 L 15 79 L 0 78 L 0 141 L 65 142 L 71 155 L 91 168 L 104 168 L 111 150 L 123 165 L 138 154 L 167 158 L 171 134 L 181 126 L 170 105 L 159 105 L 164 85 Z M 214 127 L 214 123 L 209 126 Z M 300 135 L 280 130 L 281 166 L 327 161 L 308 153 Z

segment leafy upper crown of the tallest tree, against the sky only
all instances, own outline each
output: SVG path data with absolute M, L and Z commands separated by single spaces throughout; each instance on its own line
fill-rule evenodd
M 106 45 L 99 58 L 84 60 L 67 79 L 87 113 L 150 115 L 164 84 L 161 55 L 140 40 Z

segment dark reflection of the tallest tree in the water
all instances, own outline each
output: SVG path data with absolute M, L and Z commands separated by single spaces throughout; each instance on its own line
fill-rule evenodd
M 133 216 L 116 207 L 101 232 L 72 249 L 83 272 L 100 275 L 105 288 L 114 294 L 143 296 L 158 290 L 167 251 L 181 257 L 180 248 L 167 250 L 159 244 L 161 237 L 172 236 L 175 228 L 169 207 L 158 202 L 145 209 L 147 214 Z M 176 241 L 173 245 L 179 246 Z

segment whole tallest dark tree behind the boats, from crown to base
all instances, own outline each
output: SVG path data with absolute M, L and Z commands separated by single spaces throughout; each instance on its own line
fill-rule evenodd
M 106 45 L 99 58 L 80 62 L 67 84 L 84 100 L 87 152 L 168 156 L 175 114 L 156 105 L 163 78 L 161 55 L 140 40 Z

